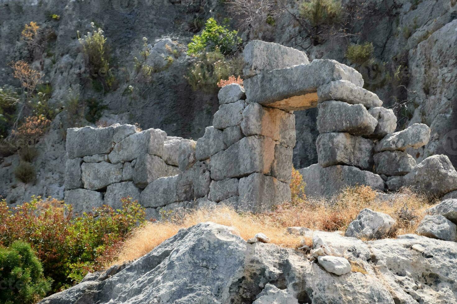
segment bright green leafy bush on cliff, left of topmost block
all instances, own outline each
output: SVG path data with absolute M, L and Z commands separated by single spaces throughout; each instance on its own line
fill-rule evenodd
M 230 31 L 227 26 L 220 26 L 214 18 L 209 18 L 202 34 L 195 35 L 188 44 L 187 54 L 198 55 L 218 49 L 223 55 L 228 55 L 241 42 L 238 31 Z

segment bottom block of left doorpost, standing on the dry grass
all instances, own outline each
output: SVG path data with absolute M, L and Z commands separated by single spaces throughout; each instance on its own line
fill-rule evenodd
M 252 212 L 269 211 L 271 207 L 291 199 L 287 183 L 261 173 L 241 178 L 238 192 L 238 209 Z

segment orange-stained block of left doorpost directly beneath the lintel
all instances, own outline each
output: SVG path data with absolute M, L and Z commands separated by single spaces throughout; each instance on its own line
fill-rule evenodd
M 287 146 L 295 146 L 295 115 L 280 109 L 250 103 L 243 111 L 241 130 L 245 136 L 263 135 Z

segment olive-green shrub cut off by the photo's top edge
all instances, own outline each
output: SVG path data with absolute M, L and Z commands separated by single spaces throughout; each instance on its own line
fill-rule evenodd
M 341 20 L 342 13 L 340 0 L 306 0 L 300 4 L 300 15 L 311 26 L 335 24 Z

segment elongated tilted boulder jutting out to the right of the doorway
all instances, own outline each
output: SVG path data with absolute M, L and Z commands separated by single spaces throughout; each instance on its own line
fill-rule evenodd
M 420 148 L 430 139 L 430 128 L 426 124 L 413 124 L 403 131 L 386 135 L 376 144 L 376 151 L 404 151 Z

